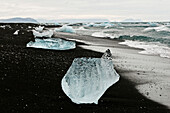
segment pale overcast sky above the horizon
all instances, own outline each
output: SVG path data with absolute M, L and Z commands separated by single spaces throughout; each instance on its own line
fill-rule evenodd
M 170 0 L 0 0 L 0 18 L 170 21 Z

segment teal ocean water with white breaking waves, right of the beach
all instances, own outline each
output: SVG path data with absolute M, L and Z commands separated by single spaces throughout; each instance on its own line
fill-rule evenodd
M 124 40 L 120 44 L 143 49 L 140 54 L 170 58 L 169 23 L 156 23 L 156 26 L 149 23 L 112 23 L 112 26 L 100 26 L 94 23 L 94 26 L 77 26 L 75 29 L 81 35 Z

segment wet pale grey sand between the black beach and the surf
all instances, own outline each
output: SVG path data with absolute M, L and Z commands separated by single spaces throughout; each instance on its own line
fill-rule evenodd
M 75 34 L 61 33 L 66 39 L 83 40 L 85 49 L 96 52 L 105 52 L 110 49 L 113 54 L 113 62 L 118 70 L 131 71 L 122 73 L 122 76 L 135 84 L 136 89 L 148 99 L 166 105 L 170 109 L 170 77 L 168 67 L 170 60 L 160 56 L 139 54 L 143 49 L 120 45 L 119 40 L 96 38 L 91 36 L 79 36 Z M 59 33 L 60 35 L 60 33 Z M 58 34 L 57 34 L 58 36 Z M 86 37 L 86 38 L 84 38 Z M 93 38 L 90 42 L 89 39 Z

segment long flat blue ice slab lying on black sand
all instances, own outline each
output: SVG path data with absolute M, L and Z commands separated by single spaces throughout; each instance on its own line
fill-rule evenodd
M 59 38 L 35 39 L 35 42 L 30 41 L 26 45 L 26 47 L 51 50 L 69 50 L 76 48 L 76 43 L 72 41 L 62 40 Z

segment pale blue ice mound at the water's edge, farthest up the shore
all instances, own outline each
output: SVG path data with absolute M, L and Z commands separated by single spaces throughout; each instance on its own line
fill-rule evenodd
M 75 30 L 71 26 L 63 25 L 60 28 L 55 28 L 56 32 L 67 32 L 67 33 L 75 33 Z

